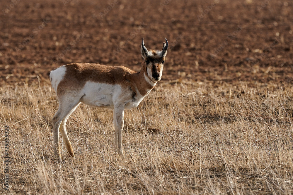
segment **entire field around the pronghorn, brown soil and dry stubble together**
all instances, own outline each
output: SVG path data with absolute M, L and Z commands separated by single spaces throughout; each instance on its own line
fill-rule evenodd
M 0 194 L 292 194 L 292 1 L 0 8 Z M 57 161 L 50 70 L 88 62 L 138 71 L 142 37 L 148 49 L 164 37 L 170 48 L 162 80 L 125 111 L 124 156 L 114 151 L 113 111 L 81 104 L 67 121 L 76 156 L 61 138 Z

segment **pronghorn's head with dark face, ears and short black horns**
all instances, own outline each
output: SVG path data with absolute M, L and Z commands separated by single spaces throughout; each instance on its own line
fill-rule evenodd
M 146 63 L 147 75 L 151 80 L 154 80 L 154 82 L 161 80 L 167 49 L 168 41 L 166 39 L 166 43 L 163 43 L 163 49 L 161 51 L 155 51 L 152 49 L 148 51 L 144 46 L 144 39 L 142 38 L 142 47 L 140 48 L 140 52 Z

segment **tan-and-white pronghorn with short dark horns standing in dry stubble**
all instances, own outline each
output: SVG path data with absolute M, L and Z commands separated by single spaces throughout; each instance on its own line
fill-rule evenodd
M 167 49 L 167 39 L 161 51 L 147 50 L 142 39 L 140 52 L 144 63 L 138 73 L 124 66 L 89 63 L 67 64 L 51 71 L 51 84 L 59 100 L 58 111 L 52 120 L 54 154 L 60 156 L 60 130 L 69 155 L 74 156 L 65 125 L 71 113 L 81 102 L 114 110 L 114 146 L 118 153 L 123 154 L 124 110 L 137 107 L 161 80 Z

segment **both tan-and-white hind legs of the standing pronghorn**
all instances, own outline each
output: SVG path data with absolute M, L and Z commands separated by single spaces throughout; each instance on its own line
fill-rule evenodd
M 76 109 L 79 105 L 78 101 L 72 101 L 72 99 L 66 99 L 64 101 L 59 101 L 59 108 L 56 114 L 53 117 L 53 139 L 54 139 L 54 155 L 60 157 L 60 150 L 59 150 L 59 128 L 61 126 L 61 134 L 64 139 L 65 145 L 69 154 L 74 156 L 73 149 L 71 143 L 68 139 L 67 132 L 65 129 L 66 121 L 69 115 Z M 63 121 L 63 122 L 62 122 Z

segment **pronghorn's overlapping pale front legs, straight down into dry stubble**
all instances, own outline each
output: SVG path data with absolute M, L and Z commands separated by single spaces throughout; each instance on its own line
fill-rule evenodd
M 122 149 L 122 130 L 123 130 L 123 116 L 124 116 L 124 106 L 114 106 L 114 127 L 115 127 L 115 141 L 114 147 L 116 151 L 123 154 Z

